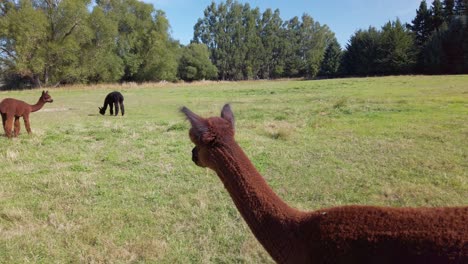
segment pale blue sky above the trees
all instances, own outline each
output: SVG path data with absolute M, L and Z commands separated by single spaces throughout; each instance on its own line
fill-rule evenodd
M 166 13 L 171 25 L 171 35 L 182 44 L 193 38 L 193 26 L 212 0 L 143 0 Z M 221 1 L 216 0 L 216 3 Z M 342 47 L 358 29 L 369 26 L 382 27 L 389 20 L 399 18 L 411 22 L 421 0 L 238 0 L 252 8 L 279 9 L 284 20 L 307 13 L 320 24 L 326 24 L 335 32 Z M 430 5 L 428 1 L 428 5 Z

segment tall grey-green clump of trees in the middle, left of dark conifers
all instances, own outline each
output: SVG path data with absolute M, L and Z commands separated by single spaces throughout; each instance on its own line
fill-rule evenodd
M 194 27 L 221 79 L 315 77 L 333 32 L 305 14 L 282 22 L 279 10 L 260 14 L 249 4 L 212 3 Z

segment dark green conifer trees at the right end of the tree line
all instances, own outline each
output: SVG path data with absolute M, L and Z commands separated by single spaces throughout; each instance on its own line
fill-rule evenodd
M 416 17 L 358 30 L 336 75 L 468 73 L 468 1 L 421 1 Z M 325 60 L 329 60 L 325 58 Z

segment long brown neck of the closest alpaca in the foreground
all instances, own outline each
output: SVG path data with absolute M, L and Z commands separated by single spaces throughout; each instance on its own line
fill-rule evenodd
M 294 252 L 297 226 L 305 213 L 281 200 L 236 142 L 215 148 L 211 159 L 255 237 L 278 262 Z

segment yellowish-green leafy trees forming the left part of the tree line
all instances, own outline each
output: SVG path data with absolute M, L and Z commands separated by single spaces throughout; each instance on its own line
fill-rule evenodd
M 138 0 L 4 0 L 0 67 L 16 85 L 173 81 L 181 51 L 169 27 Z

